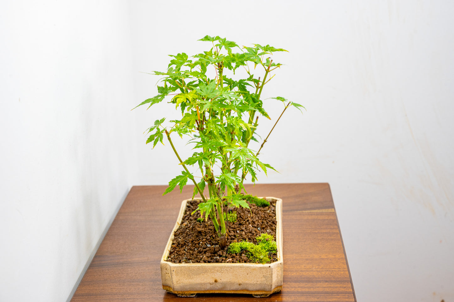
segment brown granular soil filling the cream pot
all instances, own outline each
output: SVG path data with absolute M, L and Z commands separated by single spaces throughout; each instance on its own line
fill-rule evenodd
M 270 201 L 270 200 L 268 200 Z M 276 240 L 276 201 L 271 200 L 269 207 L 260 208 L 249 204 L 247 208 L 234 208 L 237 221 L 227 225 L 227 247 L 219 248 L 219 239 L 210 219 L 200 223 L 200 212 L 191 213 L 197 208 L 199 200 L 188 201 L 180 227 L 175 230 L 172 248 L 167 261 L 172 263 L 253 263 L 246 252 L 230 254 L 227 248 L 232 242 L 248 241 L 257 244 L 256 237 L 262 233 L 270 234 Z M 277 261 L 276 253 L 269 255 Z

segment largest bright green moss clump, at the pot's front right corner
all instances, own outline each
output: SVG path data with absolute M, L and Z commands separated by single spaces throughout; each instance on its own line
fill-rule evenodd
M 233 242 L 230 243 L 227 248 L 227 252 L 231 254 L 237 254 L 245 251 L 247 257 L 256 263 L 267 263 L 270 262 L 268 254 L 277 251 L 276 241 L 273 240 L 273 236 L 268 234 L 262 234 L 256 237 L 257 244 L 252 242 Z

